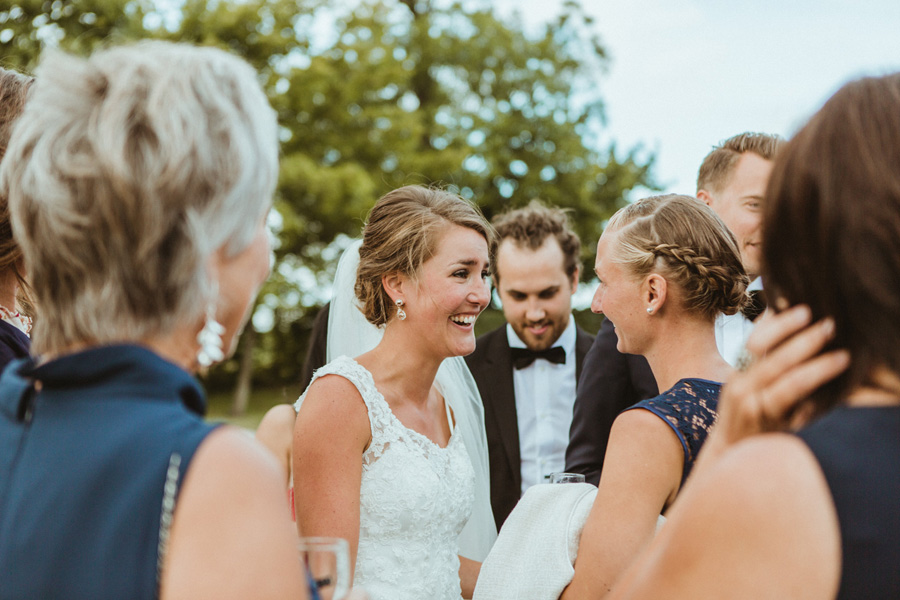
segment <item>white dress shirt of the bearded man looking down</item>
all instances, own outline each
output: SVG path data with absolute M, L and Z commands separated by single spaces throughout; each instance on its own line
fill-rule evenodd
M 509 324 L 506 335 L 510 348 L 526 347 Z M 564 364 L 538 358 L 513 369 L 523 494 L 536 483 L 549 483 L 550 473 L 565 471 L 575 404 L 575 338 L 575 319 L 569 317 L 553 344 L 566 351 Z

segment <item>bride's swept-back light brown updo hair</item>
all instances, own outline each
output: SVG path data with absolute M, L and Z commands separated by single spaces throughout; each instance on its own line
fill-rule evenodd
M 494 229 L 471 202 L 438 188 L 408 185 L 382 196 L 369 213 L 354 291 L 366 319 L 381 327 L 396 314 L 381 283 L 389 273 L 413 279 L 448 225 L 474 229 L 494 247 Z

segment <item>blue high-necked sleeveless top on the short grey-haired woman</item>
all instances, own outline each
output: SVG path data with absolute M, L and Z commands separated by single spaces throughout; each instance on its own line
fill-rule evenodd
M 158 597 L 178 490 L 214 428 L 205 409 L 193 377 L 138 346 L 11 363 L 0 377 L 0 598 Z

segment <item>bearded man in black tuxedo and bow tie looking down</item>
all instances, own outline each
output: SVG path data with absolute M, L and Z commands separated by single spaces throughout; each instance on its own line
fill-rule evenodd
M 566 213 L 532 201 L 494 219 L 494 285 L 507 325 L 466 362 L 484 401 L 499 529 L 522 493 L 565 467 L 572 404 L 592 337 L 572 318 L 581 242 Z

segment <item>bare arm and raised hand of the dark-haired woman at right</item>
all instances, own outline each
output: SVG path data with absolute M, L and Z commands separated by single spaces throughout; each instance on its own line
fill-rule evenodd
M 725 385 L 691 480 L 614 598 L 834 597 L 840 531 L 824 476 L 798 438 L 765 434 L 846 369 L 846 351 L 822 353 L 832 331 L 804 306 L 762 318 L 755 362 Z

